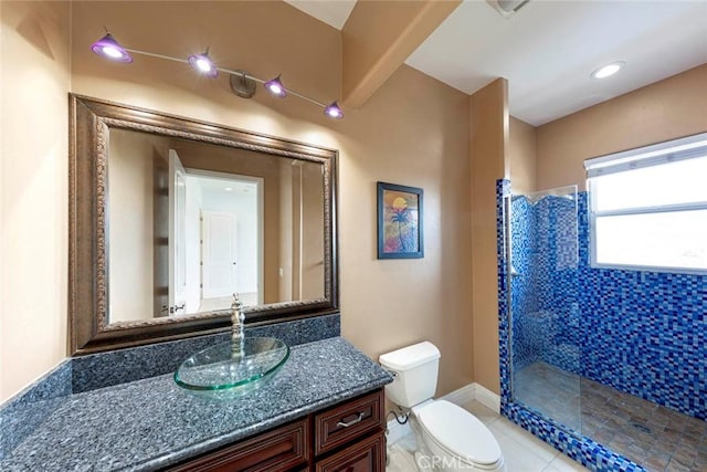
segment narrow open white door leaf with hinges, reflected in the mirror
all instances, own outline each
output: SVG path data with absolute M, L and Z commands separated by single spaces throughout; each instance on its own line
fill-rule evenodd
M 187 298 L 187 172 L 169 149 L 169 314 L 184 314 Z

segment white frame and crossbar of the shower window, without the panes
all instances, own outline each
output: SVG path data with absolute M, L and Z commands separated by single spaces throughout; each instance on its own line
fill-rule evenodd
M 636 207 L 630 209 L 595 211 L 595 190 L 592 189 L 592 178 L 609 174 L 631 171 L 633 169 L 659 166 L 694 158 L 707 158 L 707 133 L 673 139 L 652 146 L 630 149 L 616 154 L 595 157 L 584 161 L 587 170 L 587 189 L 589 191 L 589 241 L 590 266 L 594 269 L 618 269 L 644 272 L 668 272 L 707 275 L 707 268 L 677 268 L 661 265 L 632 265 L 597 262 L 597 219 L 602 217 L 621 217 L 633 214 L 672 213 L 677 211 L 707 210 L 707 201 Z M 706 176 L 707 177 L 707 176 Z M 707 181 L 705 182 L 707 185 Z

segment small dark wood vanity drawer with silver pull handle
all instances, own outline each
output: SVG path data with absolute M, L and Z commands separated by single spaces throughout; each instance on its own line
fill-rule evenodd
M 315 415 L 315 454 L 331 451 L 366 432 L 382 429 L 383 401 L 383 390 L 379 389 Z

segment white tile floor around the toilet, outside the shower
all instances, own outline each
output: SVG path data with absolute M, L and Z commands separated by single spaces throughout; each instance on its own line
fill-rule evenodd
M 463 405 L 494 433 L 506 461 L 507 472 L 574 472 L 587 471 L 581 464 L 562 455 L 523 428 L 500 417 L 477 401 Z M 408 434 L 388 444 L 389 464 L 386 472 L 418 472 L 412 451 L 414 437 Z

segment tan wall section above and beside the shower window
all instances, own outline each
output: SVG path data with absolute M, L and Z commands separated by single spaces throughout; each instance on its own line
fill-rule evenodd
M 577 183 L 584 159 L 707 132 L 707 64 L 537 129 L 538 188 Z

